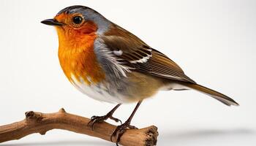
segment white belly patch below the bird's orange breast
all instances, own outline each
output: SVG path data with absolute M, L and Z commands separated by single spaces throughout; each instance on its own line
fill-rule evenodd
M 86 94 L 92 99 L 115 104 L 122 104 L 126 102 L 125 98 L 120 94 L 116 93 L 115 91 L 109 93 L 108 88 L 106 88 L 105 85 L 103 85 L 102 83 L 95 85 L 93 82 L 91 82 L 91 84 L 88 85 L 86 82 L 84 82 L 83 78 L 80 78 L 80 82 L 76 79 L 74 75 L 72 75 L 71 78 L 72 85 L 74 85 L 75 88 L 78 88 L 80 92 Z

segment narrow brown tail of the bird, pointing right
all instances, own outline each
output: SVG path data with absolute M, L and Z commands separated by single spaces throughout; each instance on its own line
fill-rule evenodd
M 187 86 L 188 88 L 192 88 L 196 91 L 199 91 L 201 93 L 205 93 L 208 96 L 213 97 L 214 99 L 217 99 L 218 101 L 221 101 L 223 104 L 226 104 L 227 106 L 230 105 L 235 105 L 238 106 L 239 104 L 234 101 L 233 99 L 231 99 L 228 96 L 225 96 L 222 93 L 219 93 L 217 91 L 211 90 L 209 88 L 203 87 L 203 85 L 198 85 L 198 84 L 194 84 L 194 83 L 189 83 L 189 82 L 180 82 L 181 85 Z

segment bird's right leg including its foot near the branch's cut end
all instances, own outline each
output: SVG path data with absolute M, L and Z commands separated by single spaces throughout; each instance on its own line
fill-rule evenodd
M 135 107 L 135 110 L 133 110 L 132 115 L 129 116 L 129 118 L 127 119 L 127 121 L 125 121 L 125 123 L 121 124 L 120 126 L 116 127 L 116 130 L 113 131 L 113 134 L 110 137 L 111 142 L 113 142 L 112 137 L 114 136 L 118 136 L 116 139 L 116 145 L 118 146 L 118 142 L 120 141 L 121 136 L 124 134 L 124 132 L 127 130 L 127 128 L 136 128 L 135 126 L 131 126 L 131 120 L 133 118 L 133 116 L 135 115 L 135 112 L 138 110 L 138 107 L 140 107 L 142 101 L 139 101 L 138 104 Z

